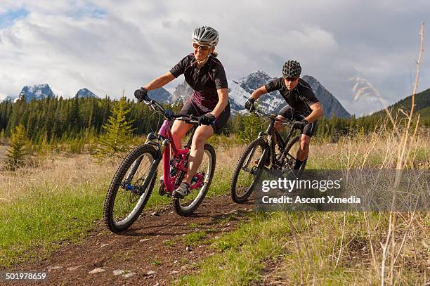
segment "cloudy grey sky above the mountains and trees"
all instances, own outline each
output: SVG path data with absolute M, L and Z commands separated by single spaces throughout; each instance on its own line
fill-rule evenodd
M 131 98 L 192 52 L 197 25 L 211 25 L 228 78 L 256 70 L 279 77 L 283 63 L 297 59 L 302 75 L 363 115 L 382 106 L 353 101 L 349 79 L 369 80 L 389 104 L 408 96 L 426 20 L 429 0 L 1 0 L 0 98 L 45 83 L 63 97 L 86 87 L 116 98 L 125 89 Z M 419 91 L 430 88 L 430 32 L 424 37 Z

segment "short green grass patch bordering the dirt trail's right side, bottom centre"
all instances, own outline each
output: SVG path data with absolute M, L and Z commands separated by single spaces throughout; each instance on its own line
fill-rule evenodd
M 275 240 L 282 239 L 282 235 L 287 232 L 270 228 L 271 221 L 268 218 L 256 214 L 252 221 L 242 223 L 232 233 L 213 240 L 211 247 L 220 253 L 202 261 L 197 275 L 183 277 L 178 284 L 247 285 L 258 280 L 259 271 L 264 267 L 263 260 L 279 252 L 280 247 L 275 246 Z M 285 226 L 280 227 L 285 230 Z

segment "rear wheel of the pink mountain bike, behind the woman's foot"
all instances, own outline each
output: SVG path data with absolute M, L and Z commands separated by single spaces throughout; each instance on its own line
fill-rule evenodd
M 174 208 L 176 213 L 181 216 L 190 216 L 202 203 L 204 196 L 211 186 L 212 178 L 214 177 L 216 157 L 215 150 L 209 144 L 204 144 L 203 159 L 197 173 L 204 173 L 204 184 L 198 189 L 191 190 L 183 199 L 173 198 Z

